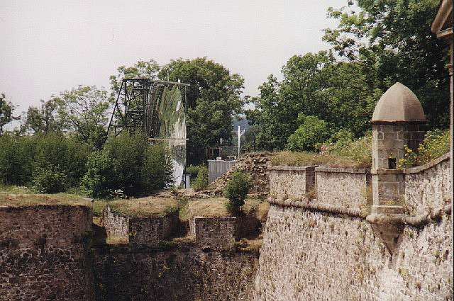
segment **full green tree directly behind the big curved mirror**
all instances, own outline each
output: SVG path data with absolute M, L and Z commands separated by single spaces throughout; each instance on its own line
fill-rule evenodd
M 244 79 L 206 57 L 176 59 L 162 67 L 158 77 L 191 84 L 187 88 L 188 147 L 231 141 L 232 117 L 241 112 Z

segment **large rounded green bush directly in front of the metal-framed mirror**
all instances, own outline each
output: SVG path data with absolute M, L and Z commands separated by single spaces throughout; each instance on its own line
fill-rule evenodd
M 172 161 L 162 144 L 142 135 L 111 137 L 88 160 L 82 187 L 92 198 L 140 196 L 172 183 Z

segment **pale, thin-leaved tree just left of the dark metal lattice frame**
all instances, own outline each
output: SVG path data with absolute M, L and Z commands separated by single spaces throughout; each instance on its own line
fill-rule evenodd
M 82 141 L 100 149 L 106 137 L 109 93 L 96 86 L 78 86 L 63 91 L 57 99 L 57 113 L 60 120 L 65 120 L 65 129 L 76 132 Z

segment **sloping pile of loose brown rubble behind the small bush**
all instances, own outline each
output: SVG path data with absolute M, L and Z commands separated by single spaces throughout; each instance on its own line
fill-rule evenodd
M 233 171 L 240 170 L 250 174 L 253 186 L 250 188 L 250 195 L 265 196 L 270 193 L 270 174 L 267 171 L 267 164 L 272 156 L 271 152 L 253 152 L 243 154 L 236 162 L 235 166 L 220 178 L 211 183 L 206 191 L 201 193 L 210 193 L 211 195 L 222 195 L 227 181 L 231 178 Z

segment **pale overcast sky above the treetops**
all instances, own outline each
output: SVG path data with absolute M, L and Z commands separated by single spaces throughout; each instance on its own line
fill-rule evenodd
M 79 84 L 109 89 L 122 64 L 208 57 L 255 96 L 289 57 L 326 50 L 329 6 L 346 0 L 0 0 L 0 92 L 37 105 Z

